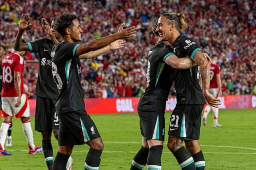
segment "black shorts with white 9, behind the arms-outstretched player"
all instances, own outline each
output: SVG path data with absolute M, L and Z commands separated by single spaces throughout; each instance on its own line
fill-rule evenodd
M 35 130 L 52 131 L 59 128 L 58 115 L 55 112 L 55 99 L 37 96 L 35 107 Z

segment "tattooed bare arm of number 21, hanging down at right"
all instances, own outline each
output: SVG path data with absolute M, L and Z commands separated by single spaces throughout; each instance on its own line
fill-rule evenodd
M 209 93 L 209 85 L 210 85 L 210 64 L 207 59 L 204 57 L 204 54 L 201 51 L 197 51 L 195 56 L 193 57 L 193 61 L 200 66 L 200 73 L 202 77 L 203 84 L 203 94 L 207 102 L 213 107 L 217 108 L 220 105 L 220 100 L 215 99 Z

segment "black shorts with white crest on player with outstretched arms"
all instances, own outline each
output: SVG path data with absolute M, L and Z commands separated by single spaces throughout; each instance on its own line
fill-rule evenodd
M 58 144 L 60 146 L 84 144 L 99 138 L 99 132 L 86 111 L 74 111 L 58 114 L 60 128 Z

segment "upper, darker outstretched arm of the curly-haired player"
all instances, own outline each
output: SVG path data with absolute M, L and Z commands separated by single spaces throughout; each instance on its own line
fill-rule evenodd
M 78 47 L 76 48 L 76 56 L 80 56 L 89 51 L 98 50 L 99 48 L 103 48 L 106 45 L 110 44 L 111 42 L 114 42 L 115 40 L 134 37 L 133 34 L 136 33 L 136 27 L 132 26 L 132 27 L 123 29 L 124 26 L 125 26 L 125 23 L 123 23 L 122 26 L 120 26 L 119 30 L 115 34 L 112 34 L 103 38 L 98 38 L 98 39 L 89 41 L 87 43 L 79 44 Z

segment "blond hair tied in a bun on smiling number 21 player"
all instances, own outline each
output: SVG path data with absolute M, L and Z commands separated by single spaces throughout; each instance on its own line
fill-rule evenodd
M 169 24 L 174 23 L 175 27 L 179 31 L 185 30 L 188 26 L 188 23 L 185 21 L 185 14 L 183 14 L 182 12 L 166 12 L 162 14 L 162 16 L 166 17 L 167 20 L 169 20 Z

